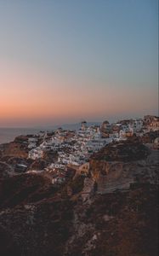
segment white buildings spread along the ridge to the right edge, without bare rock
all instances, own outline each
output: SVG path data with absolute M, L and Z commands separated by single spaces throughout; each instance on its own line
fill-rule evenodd
M 36 160 L 43 158 L 46 151 L 58 152 L 58 159 L 45 169 L 54 172 L 53 183 L 62 183 L 65 180 L 65 166 L 84 166 L 94 152 L 99 151 L 112 141 L 120 141 L 132 137 L 133 134 L 142 136 L 147 131 L 159 130 L 159 119 L 154 116 L 145 116 L 144 119 L 124 119 L 116 124 L 108 121 L 102 125 L 88 126 L 82 122 L 78 131 L 64 131 L 61 128 L 51 135 L 41 133 L 42 143 L 36 147 L 37 138 L 31 138 L 28 148 L 28 158 Z M 85 167 L 84 167 L 85 168 Z M 82 169 L 82 168 L 81 168 Z

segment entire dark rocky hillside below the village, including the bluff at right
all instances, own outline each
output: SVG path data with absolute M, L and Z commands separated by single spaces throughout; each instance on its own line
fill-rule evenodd
M 88 177 L 56 187 L 43 173 L 9 175 L 16 160 L 0 167 L 0 255 L 158 255 L 157 151 L 112 143 Z

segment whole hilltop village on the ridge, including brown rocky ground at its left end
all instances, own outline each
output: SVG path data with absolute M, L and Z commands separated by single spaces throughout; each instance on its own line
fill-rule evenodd
M 159 118 L 151 115 L 144 119 L 123 119 L 115 124 L 105 120 L 101 125 L 89 126 L 82 121 L 77 131 L 58 128 L 16 137 L 14 143 L 1 146 L 2 160 L 12 156 L 7 162 L 13 163 L 14 174 L 44 172 L 53 184 L 60 184 L 65 182 L 70 169 L 87 176 L 91 155 L 110 143 L 138 137 L 149 147 L 158 149 L 158 130 Z

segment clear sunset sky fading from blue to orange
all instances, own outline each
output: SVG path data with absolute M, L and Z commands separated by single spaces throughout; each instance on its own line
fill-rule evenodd
M 157 0 L 0 0 L 0 127 L 158 114 Z

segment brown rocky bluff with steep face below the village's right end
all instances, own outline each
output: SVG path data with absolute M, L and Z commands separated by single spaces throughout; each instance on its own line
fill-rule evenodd
M 137 179 L 157 182 L 158 153 L 141 143 L 113 143 L 90 160 L 90 172 L 98 193 L 128 189 Z

